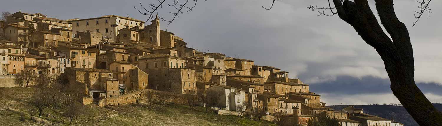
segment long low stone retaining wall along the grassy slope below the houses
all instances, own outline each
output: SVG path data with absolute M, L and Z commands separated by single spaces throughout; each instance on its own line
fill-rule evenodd
M 99 101 L 98 105 L 101 107 L 108 105 L 120 105 L 120 104 L 134 104 L 137 103 L 137 99 L 145 99 L 148 90 L 138 90 L 130 94 L 123 94 L 115 97 L 107 97 Z M 175 104 L 187 104 L 185 94 L 176 94 L 172 92 L 150 90 L 152 94 L 152 101 L 157 99 L 158 93 L 167 94 L 166 102 Z

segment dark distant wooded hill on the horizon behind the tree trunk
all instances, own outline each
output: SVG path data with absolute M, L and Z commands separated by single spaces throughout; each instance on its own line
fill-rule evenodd
M 341 110 L 348 105 L 331 105 L 328 106 L 335 110 Z M 392 106 L 392 105 L 381 105 L 381 104 L 371 104 L 371 105 L 354 105 L 355 108 L 362 108 L 364 113 L 370 115 L 376 115 L 385 119 L 394 119 L 396 122 L 404 123 L 405 126 L 419 126 L 417 122 L 408 114 L 402 106 Z M 442 111 L 442 104 L 434 104 L 439 111 Z

